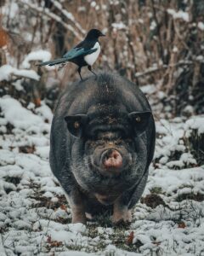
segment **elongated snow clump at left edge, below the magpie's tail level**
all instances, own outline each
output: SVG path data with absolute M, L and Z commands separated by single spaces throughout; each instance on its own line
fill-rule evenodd
M 17 69 L 10 65 L 3 65 L 0 67 L 0 81 L 8 81 L 11 79 L 12 75 L 37 81 L 40 79 L 40 76 L 34 70 Z

